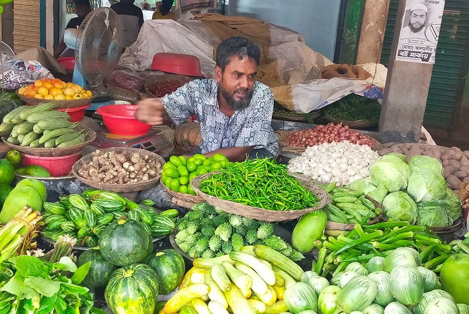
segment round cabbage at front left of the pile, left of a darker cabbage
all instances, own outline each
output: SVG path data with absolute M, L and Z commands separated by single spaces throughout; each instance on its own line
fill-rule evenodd
M 382 205 L 385 216 L 389 219 L 415 224 L 419 218 L 417 205 L 405 192 L 397 191 L 386 195 Z

